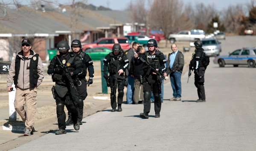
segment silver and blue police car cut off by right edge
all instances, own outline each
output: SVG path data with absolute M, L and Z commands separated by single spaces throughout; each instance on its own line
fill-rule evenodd
M 213 63 L 219 64 L 219 67 L 224 67 L 226 64 L 233 64 L 234 67 L 238 65 L 246 65 L 255 67 L 256 62 L 256 48 L 241 48 L 233 51 L 229 55 L 221 55 L 215 57 Z

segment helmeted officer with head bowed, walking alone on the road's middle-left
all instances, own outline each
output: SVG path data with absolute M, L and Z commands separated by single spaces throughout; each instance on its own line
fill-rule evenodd
M 127 69 L 129 61 L 126 58 L 125 54 L 122 53 L 121 45 L 114 44 L 112 48 L 113 52 L 109 53 L 103 60 L 103 73 L 104 78 L 110 83 L 111 87 L 111 112 L 116 111 L 116 88 L 118 87 L 118 96 L 117 96 L 117 111 L 122 111 L 122 101 L 124 96 L 124 71 Z M 109 71 L 109 76 L 107 75 L 107 68 Z

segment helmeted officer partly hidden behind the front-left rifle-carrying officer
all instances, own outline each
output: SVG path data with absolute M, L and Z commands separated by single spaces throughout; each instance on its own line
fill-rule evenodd
M 77 103 L 77 111 L 78 111 L 78 121 L 79 124 L 82 125 L 83 119 L 83 109 L 84 109 L 84 99 L 87 97 L 87 84 L 88 87 L 90 84 L 93 84 L 93 76 L 94 76 L 94 68 L 93 68 L 93 61 L 90 56 L 84 52 L 82 52 L 82 45 L 80 40 L 73 40 L 71 43 L 71 49 L 75 56 L 78 56 L 83 63 L 83 72 L 77 76 L 77 92 L 78 92 L 78 103 Z M 87 68 L 89 72 L 89 79 L 86 80 L 87 75 Z M 72 124 L 72 115 L 71 112 L 68 111 L 68 120 L 66 121 L 66 125 Z

